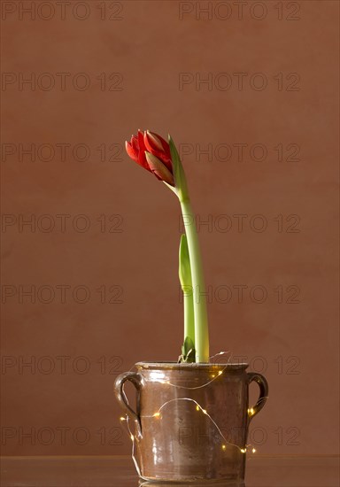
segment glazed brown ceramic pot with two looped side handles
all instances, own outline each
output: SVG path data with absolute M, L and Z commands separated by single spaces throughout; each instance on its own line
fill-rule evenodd
M 130 420 L 133 458 L 143 480 L 243 483 L 249 423 L 268 395 L 266 378 L 247 367 L 138 362 L 136 372 L 117 377 L 115 394 Z M 127 381 L 135 385 L 135 409 L 123 390 Z M 250 407 L 253 381 L 259 399 Z

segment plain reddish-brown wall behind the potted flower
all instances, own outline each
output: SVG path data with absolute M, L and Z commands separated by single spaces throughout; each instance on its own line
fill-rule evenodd
M 115 375 L 180 353 L 180 210 L 137 128 L 182 152 L 212 353 L 270 383 L 252 444 L 336 452 L 338 3 L 1 6 L 4 454 L 128 454 Z

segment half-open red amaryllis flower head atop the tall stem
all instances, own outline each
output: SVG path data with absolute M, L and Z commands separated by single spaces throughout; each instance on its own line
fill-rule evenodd
M 138 130 L 138 135 L 132 135 L 125 146 L 128 156 L 137 164 L 155 174 L 158 180 L 174 186 L 170 147 L 160 135 L 149 130 Z

